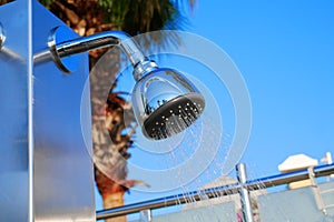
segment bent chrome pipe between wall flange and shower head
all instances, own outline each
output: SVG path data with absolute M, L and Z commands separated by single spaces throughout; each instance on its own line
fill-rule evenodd
M 134 67 L 134 78 L 136 81 L 158 68 L 154 61 L 144 56 L 137 42 L 129 34 L 121 31 L 106 31 L 55 43 L 50 46 L 50 50 L 53 59 L 59 61 L 61 58 L 108 47 L 119 47 L 122 49 Z

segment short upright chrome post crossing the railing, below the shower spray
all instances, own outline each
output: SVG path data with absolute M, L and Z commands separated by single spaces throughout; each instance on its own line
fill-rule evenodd
M 246 182 L 247 182 L 246 165 L 244 163 L 237 164 L 236 171 L 237 171 L 237 180 L 240 184 L 239 194 L 240 194 L 244 221 L 254 222 L 250 195 L 246 186 Z

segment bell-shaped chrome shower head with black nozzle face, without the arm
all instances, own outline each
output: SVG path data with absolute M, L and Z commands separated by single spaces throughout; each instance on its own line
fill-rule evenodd
M 204 97 L 173 69 L 156 68 L 138 80 L 132 109 L 143 133 L 153 140 L 169 138 L 191 125 L 205 108 Z

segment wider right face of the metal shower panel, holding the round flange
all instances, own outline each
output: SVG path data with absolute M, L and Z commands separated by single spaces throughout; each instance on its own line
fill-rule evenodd
M 38 53 L 48 48 L 51 30 L 65 24 L 37 2 L 32 14 L 32 44 Z M 95 221 L 91 151 L 80 124 L 88 54 L 77 58 L 78 68 L 71 74 L 51 60 L 33 68 L 36 221 Z M 90 125 L 90 118 L 84 124 Z

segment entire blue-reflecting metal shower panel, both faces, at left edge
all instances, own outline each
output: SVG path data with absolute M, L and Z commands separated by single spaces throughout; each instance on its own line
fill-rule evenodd
M 85 143 L 91 138 L 81 132 L 90 119 L 80 122 L 81 94 L 89 94 L 87 53 L 71 74 L 51 59 L 31 63 L 33 54 L 48 49 L 51 30 L 63 26 L 35 0 L 0 7 L 0 22 L 6 33 L 0 50 L 0 221 L 31 221 L 31 209 L 37 222 L 95 221 L 91 148 Z M 84 103 L 89 112 L 89 101 Z

